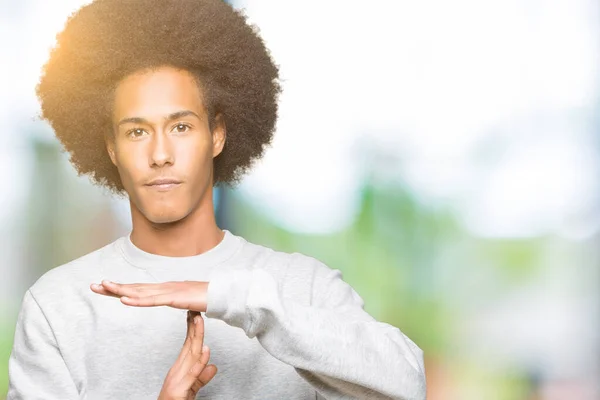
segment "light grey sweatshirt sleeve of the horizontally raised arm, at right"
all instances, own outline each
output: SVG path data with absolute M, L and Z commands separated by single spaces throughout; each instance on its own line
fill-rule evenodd
M 206 316 L 256 337 L 327 399 L 425 399 L 421 349 L 365 312 L 339 270 L 307 258 L 315 270 L 310 305 L 283 296 L 264 269 L 223 271 L 209 283 Z

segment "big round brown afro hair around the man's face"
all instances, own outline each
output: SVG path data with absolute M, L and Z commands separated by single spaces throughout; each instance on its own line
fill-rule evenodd
M 119 81 L 173 66 L 193 74 L 209 115 L 221 113 L 227 141 L 214 184 L 234 185 L 271 143 L 281 91 L 278 67 L 246 17 L 222 0 L 96 0 L 69 16 L 36 93 L 79 175 L 125 190 L 106 150 Z

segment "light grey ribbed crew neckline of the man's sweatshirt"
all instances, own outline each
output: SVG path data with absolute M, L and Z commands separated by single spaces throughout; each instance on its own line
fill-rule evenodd
M 227 229 L 223 239 L 212 249 L 195 256 L 169 257 L 148 253 L 131 241 L 131 232 L 121 237 L 117 245 L 123 257 L 131 265 L 141 269 L 182 269 L 187 267 L 213 267 L 232 257 L 241 247 L 243 240 Z

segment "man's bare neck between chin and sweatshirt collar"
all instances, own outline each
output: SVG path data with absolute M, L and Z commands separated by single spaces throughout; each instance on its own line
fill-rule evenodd
M 130 201 L 131 242 L 145 252 L 167 257 L 195 256 L 212 249 L 225 235 L 217 226 L 212 197 L 210 187 L 190 214 L 163 224 L 149 221 Z

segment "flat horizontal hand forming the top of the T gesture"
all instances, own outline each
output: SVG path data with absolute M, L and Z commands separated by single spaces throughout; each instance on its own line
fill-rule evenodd
M 168 306 L 206 312 L 208 282 L 120 284 L 104 280 L 99 285 L 92 284 L 90 288 L 95 293 L 120 298 L 121 302 L 128 306 Z

